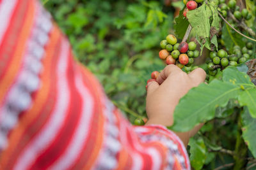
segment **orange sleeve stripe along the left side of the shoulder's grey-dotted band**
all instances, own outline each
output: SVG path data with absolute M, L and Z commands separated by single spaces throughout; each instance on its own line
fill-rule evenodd
M 26 20 L 24 22 L 24 25 L 22 25 L 22 31 L 20 32 L 19 39 L 17 40 L 17 46 L 15 48 L 15 52 L 13 53 L 13 59 L 10 62 L 10 69 L 6 71 L 6 73 L 3 76 L 3 79 L 0 81 L 0 101 L 3 101 L 3 98 L 8 91 L 8 88 L 12 85 L 13 80 L 15 79 L 15 76 L 17 76 L 17 73 L 20 69 L 20 64 L 22 62 L 22 58 L 24 55 L 24 52 L 26 50 L 26 41 L 28 40 L 29 34 L 31 33 L 31 27 L 34 23 L 34 17 L 35 16 L 35 1 L 31 1 L 29 3 L 28 12 L 26 13 Z M 4 89 L 4 90 L 3 90 Z

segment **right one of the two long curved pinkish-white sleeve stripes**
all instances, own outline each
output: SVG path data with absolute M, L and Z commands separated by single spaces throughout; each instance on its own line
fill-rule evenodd
M 79 118 L 79 124 L 77 125 L 76 132 L 72 137 L 67 150 L 63 153 L 62 157 L 56 161 L 56 163 L 50 169 L 68 169 L 74 164 L 80 153 L 83 152 L 84 142 L 90 134 L 90 126 L 92 124 L 93 115 L 93 99 L 86 87 L 83 84 L 83 78 L 81 74 L 76 76 L 75 79 L 76 89 L 80 96 L 82 96 L 82 115 Z M 76 114 L 76 113 L 75 113 Z M 78 114 L 78 113 L 77 113 Z

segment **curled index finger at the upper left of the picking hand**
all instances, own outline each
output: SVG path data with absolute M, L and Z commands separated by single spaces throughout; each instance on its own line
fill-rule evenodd
M 182 71 L 182 70 L 178 66 L 175 66 L 174 64 L 170 64 L 164 67 L 163 71 L 161 71 L 159 76 L 157 76 L 156 81 L 157 83 L 161 84 L 163 83 L 164 80 L 166 80 L 166 78 L 168 78 L 168 76 L 170 76 L 170 74 L 177 73 L 179 71 Z

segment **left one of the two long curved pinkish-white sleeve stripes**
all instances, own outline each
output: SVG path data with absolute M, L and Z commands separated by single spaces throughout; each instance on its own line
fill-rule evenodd
M 67 64 L 69 46 L 66 40 L 62 41 L 60 60 L 57 65 L 57 101 L 49 121 L 44 125 L 42 131 L 38 132 L 24 151 L 19 155 L 14 169 L 28 169 L 37 156 L 54 141 L 60 131 L 63 121 L 67 117 L 70 91 L 68 90 Z

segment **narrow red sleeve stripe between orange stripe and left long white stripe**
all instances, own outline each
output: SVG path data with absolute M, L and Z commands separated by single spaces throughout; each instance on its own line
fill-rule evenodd
M 19 157 L 20 153 L 23 152 L 24 148 L 26 148 L 26 146 L 29 144 L 29 141 L 31 141 L 35 138 L 36 134 L 40 131 L 40 129 L 42 129 L 44 124 L 49 120 L 49 117 L 54 109 L 54 105 L 56 103 L 56 90 L 57 90 L 56 89 L 56 82 L 57 82 L 56 81 L 57 80 L 56 65 L 57 65 L 57 61 L 60 56 L 60 45 L 61 45 L 60 40 L 61 40 L 61 38 L 58 40 L 59 43 L 57 43 L 57 46 L 49 47 L 56 51 L 56 52 L 54 52 L 56 54 L 56 57 L 53 57 L 50 68 L 45 67 L 45 69 L 52 70 L 51 77 L 49 77 L 49 80 L 51 80 L 51 86 L 50 86 L 49 96 L 47 97 L 47 101 L 45 101 L 43 109 L 40 111 L 40 113 L 38 113 L 38 116 L 35 118 L 33 123 L 28 125 L 28 127 L 24 131 L 22 138 L 20 139 L 20 142 L 16 147 L 17 149 L 15 149 L 15 152 L 13 152 L 12 155 L 10 156 L 11 160 L 9 160 L 9 164 L 7 166 L 8 169 L 13 168 L 13 166 L 15 165 L 14 162 L 17 161 L 17 158 Z M 42 74 L 44 74 L 44 73 L 42 73 Z M 42 82 L 42 83 L 44 83 L 44 82 Z M 36 96 L 36 94 L 37 94 L 37 92 L 35 92 L 35 96 Z M 26 113 L 24 113 L 24 114 L 26 114 Z

